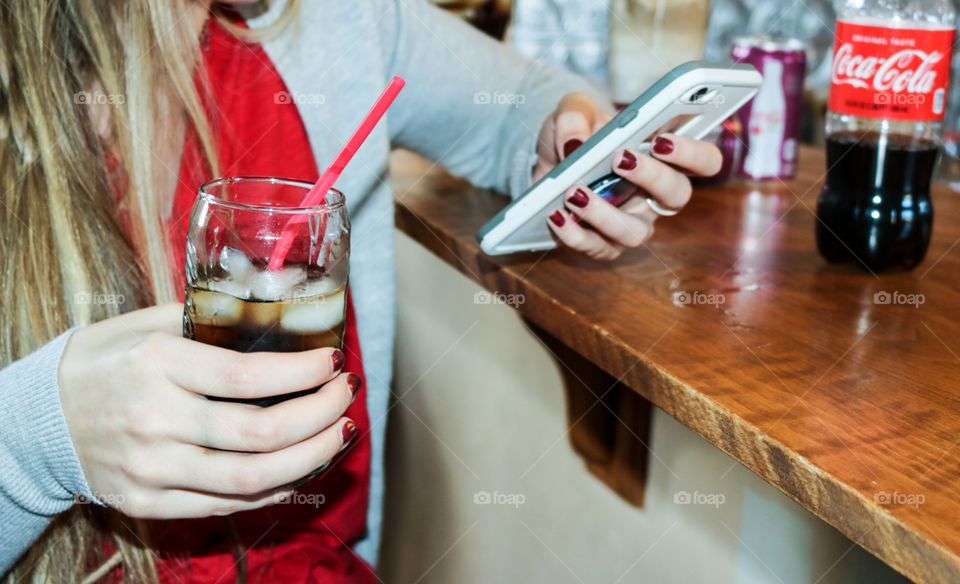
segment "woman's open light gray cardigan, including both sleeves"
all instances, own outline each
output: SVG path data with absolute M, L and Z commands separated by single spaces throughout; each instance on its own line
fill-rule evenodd
M 271 22 L 282 4 L 250 26 Z M 370 535 L 357 550 L 375 562 L 395 316 L 390 149 L 419 152 L 478 186 L 516 194 L 529 184 L 537 133 L 560 97 L 598 92 L 524 60 L 424 0 L 308 0 L 297 21 L 264 46 L 298 104 L 321 168 L 390 77 L 407 81 L 337 183 L 353 224 L 350 285 L 373 437 Z M 95 501 L 60 402 L 57 370 L 68 336 L 0 371 L 0 572 L 58 513 Z

